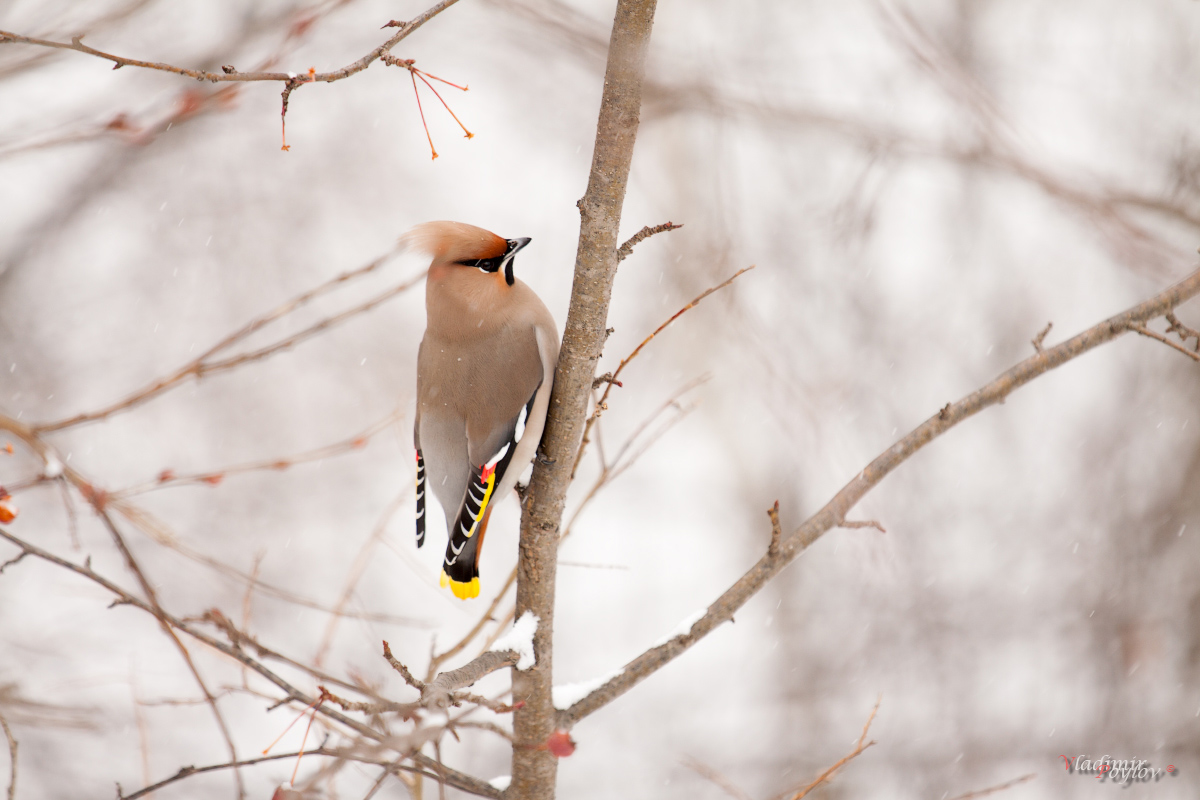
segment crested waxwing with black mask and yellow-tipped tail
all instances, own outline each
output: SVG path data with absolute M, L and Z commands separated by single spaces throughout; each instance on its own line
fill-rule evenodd
M 416 546 L 425 543 L 431 486 L 450 537 L 442 585 L 466 600 L 479 596 L 492 506 L 512 491 L 541 441 L 558 330 L 533 289 L 512 276 L 528 239 L 426 222 L 402 241 L 432 258 L 416 356 Z

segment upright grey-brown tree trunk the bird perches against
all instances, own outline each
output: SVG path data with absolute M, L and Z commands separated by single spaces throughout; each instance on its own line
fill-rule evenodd
M 514 702 L 524 703 L 514 717 L 516 744 L 508 796 L 515 800 L 554 796 L 556 757 L 539 747 L 554 732 L 551 668 L 559 527 L 571 465 L 583 435 L 592 380 L 606 338 L 608 300 L 617 275 L 620 210 L 637 138 L 646 49 L 655 5 L 656 0 L 617 2 L 592 174 L 578 204 L 582 222 L 571 305 L 542 440 L 550 463 L 535 463 L 521 521 L 516 613 L 520 618 L 533 612 L 540 624 L 534 637 L 536 666 L 524 672 L 512 670 Z

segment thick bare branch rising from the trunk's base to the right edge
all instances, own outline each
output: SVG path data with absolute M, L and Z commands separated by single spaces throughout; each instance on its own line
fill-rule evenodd
M 558 727 L 570 728 L 583 717 L 604 708 L 673 661 L 696 642 L 712 633 L 716 626 L 732 619 L 734 612 L 757 594 L 768 581 L 779 575 L 785 566 L 828 530 L 844 523 L 846 513 L 868 492 L 926 444 L 983 409 L 1003 402 L 1012 392 L 1034 378 L 1102 344 L 1111 342 L 1122 333 L 1134 330 L 1136 325 L 1144 325 L 1147 320 L 1162 317 L 1196 294 L 1200 294 L 1200 270 L 1150 300 L 1087 329 L 1062 344 L 1046 348 L 1042 353 L 1021 361 L 959 402 L 948 403 L 946 408 L 875 458 L 850 483 L 844 486 L 824 507 L 811 516 L 791 535 L 786 536 L 778 554 L 772 555 L 768 553 L 760 559 L 749 572 L 742 576 L 737 583 L 730 587 L 708 607 L 704 615 L 696 620 L 688 632 L 674 637 L 665 644 L 647 650 L 629 662 L 616 678 L 571 705 L 571 708 L 560 711 L 558 714 Z

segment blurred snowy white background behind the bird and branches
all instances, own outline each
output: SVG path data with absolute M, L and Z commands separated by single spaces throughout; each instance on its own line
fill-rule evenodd
M 281 67 L 340 67 L 383 41 L 383 22 L 424 7 L 349 2 Z M 103 4 L 14 0 L 0 5 L 0 29 L 60 41 L 94 31 L 91 46 L 134 58 L 248 70 L 304 6 L 113 8 L 130 13 L 96 25 Z M 532 236 L 517 269 L 562 326 L 612 8 L 463 0 L 402 43 L 397 56 L 470 86 L 444 95 L 470 142 L 425 95 L 437 161 L 408 76 L 383 65 L 296 91 L 281 152 L 274 84 L 137 144 L 90 133 L 118 113 L 164 119 L 196 84 L 0 44 L 0 410 L 48 421 L 118 399 L 426 219 Z M 685 227 L 622 265 L 601 369 L 702 289 L 757 269 L 689 312 L 613 391 L 610 449 L 709 375 L 683 398 L 695 413 L 564 545 L 557 680 L 610 673 L 704 607 L 766 548 L 775 499 L 797 525 L 895 438 L 1025 357 L 1048 320 L 1061 341 L 1190 271 L 1198 53 L 1200 6 L 1186 0 L 662 0 L 624 233 Z M 391 261 L 306 319 L 419 267 Z M 1181 317 L 1196 326 L 1200 307 Z M 167 468 L 302 452 L 400 409 L 364 450 L 150 493 L 139 503 L 164 530 L 131 537 L 180 614 L 240 619 L 246 589 L 181 547 L 242 572 L 260 557 L 265 583 L 331 606 L 403 494 L 350 606 L 398 619 L 344 620 L 325 666 L 407 697 L 379 640 L 424 672 L 431 637 L 455 640 L 481 608 L 437 589 L 438 523 L 433 547 L 413 542 L 422 327 L 418 287 L 292 351 L 53 441 L 115 489 Z M 830 533 L 736 624 L 581 723 L 560 796 L 724 796 L 689 758 L 770 796 L 848 752 L 880 694 L 880 744 L 821 796 L 936 800 L 1027 772 L 1038 777 L 1002 796 L 1117 793 L 1066 775 L 1060 753 L 1174 764 L 1180 775 L 1128 796 L 1195 796 L 1198 392 L 1194 363 L 1128 336 L 937 440 L 856 510 L 886 535 Z M 586 463 L 575 503 L 594 477 Z M 28 453 L 0 455 L 0 483 L 38 469 Z M 16 499 L 16 534 L 90 554 L 133 585 L 86 512 L 72 549 L 58 489 Z M 492 522 L 482 602 L 515 561 L 516 512 L 510 501 Z M 0 560 L 11 555 L 0 547 Z M 6 697 L 72 709 L 0 706 L 20 739 L 20 798 L 108 796 L 114 781 L 132 790 L 226 759 L 205 706 L 157 704 L 196 688 L 154 620 L 108 601 L 29 559 L 0 576 Z M 298 657 L 317 652 L 329 619 L 253 596 L 252 631 Z M 214 685 L 240 685 L 235 667 L 193 650 Z M 244 753 L 292 718 L 244 693 L 221 703 Z M 506 748 L 482 734 L 445 756 L 484 778 L 509 772 Z M 290 769 L 247 771 L 252 796 Z M 371 780 L 348 769 L 340 796 Z M 218 774 L 161 796 L 230 794 Z

